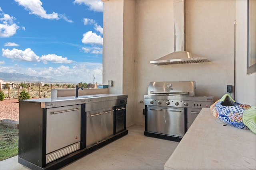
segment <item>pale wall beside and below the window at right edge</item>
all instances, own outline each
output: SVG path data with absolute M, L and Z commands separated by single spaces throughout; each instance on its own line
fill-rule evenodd
M 256 106 L 256 73 L 246 74 L 246 5 L 246 0 L 236 0 L 236 102 Z

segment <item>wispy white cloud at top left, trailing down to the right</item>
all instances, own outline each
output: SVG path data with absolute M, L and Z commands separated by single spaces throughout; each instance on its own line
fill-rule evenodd
M 52 14 L 46 14 L 46 10 L 42 7 L 42 2 L 40 0 L 15 0 L 19 4 L 19 6 L 24 6 L 26 10 L 30 11 L 29 14 L 35 14 L 40 18 L 50 19 L 50 20 L 59 20 L 60 18 L 73 22 L 72 20 L 68 20 L 64 14 L 58 14 L 56 12 L 52 12 Z

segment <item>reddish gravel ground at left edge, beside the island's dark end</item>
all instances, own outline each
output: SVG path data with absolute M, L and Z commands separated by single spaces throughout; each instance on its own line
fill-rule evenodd
M 18 99 L 4 99 L 4 101 L 0 101 L 0 119 L 19 121 Z

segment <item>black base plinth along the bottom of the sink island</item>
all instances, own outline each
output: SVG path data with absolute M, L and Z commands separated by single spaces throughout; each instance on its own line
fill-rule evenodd
M 66 156 L 63 156 L 62 158 L 59 158 L 53 162 L 50 162 L 49 164 L 46 164 L 46 166 L 43 168 L 41 168 L 35 164 L 32 164 L 20 157 L 18 159 L 18 162 L 32 170 L 56 170 L 58 168 L 61 168 L 62 166 L 65 166 L 65 165 L 73 162 L 74 160 L 77 160 L 78 158 L 81 158 L 82 156 L 85 156 L 86 154 L 93 152 L 94 150 L 97 150 L 97 149 L 125 136 L 126 134 L 128 134 L 128 130 L 124 130 L 119 133 L 116 133 L 116 135 L 112 135 L 111 137 L 108 137 L 107 139 L 104 139 L 95 145 L 91 145 L 90 147 L 86 147 L 84 149 L 77 150 L 77 151 L 72 152 Z

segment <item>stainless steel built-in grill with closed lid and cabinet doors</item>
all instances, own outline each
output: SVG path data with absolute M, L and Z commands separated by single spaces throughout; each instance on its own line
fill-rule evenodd
M 213 96 L 195 96 L 196 82 L 150 82 L 144 95 L 144 135 L 180 141 L 200 110 Z

